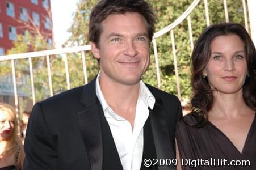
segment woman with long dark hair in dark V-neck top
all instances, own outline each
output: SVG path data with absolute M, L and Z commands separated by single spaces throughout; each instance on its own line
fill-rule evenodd
M 211 25 L 191 59 L 194 96 L 191 113 L 177 124 L 178 168 L 256 169 L 256 51 L 250 36 L 240 24 Z

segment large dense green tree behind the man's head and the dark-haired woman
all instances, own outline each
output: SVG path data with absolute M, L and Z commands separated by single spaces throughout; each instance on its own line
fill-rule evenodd
M 89 15 L 92 7 L 96 4 L 95 0 L 82 0 L 78 3 L 78 10 L 74 14 L 74 22 L 69 31 L 72 36 L 69 38 L 69 44 L 74 45 L 87 45 L 89 41 L 88 35 L 88 23 Z M 166 0 L 166 1 L 147 1 L 152 6 L 156 18 L 156 31 L 161 30 L 167 25 L 171 24 L 190 6 L 192 0 Z M 242 9 L 242 1 L 228 0 L 228 12 L 229 22 L 236 22 L 244 25 L 244 16 Z M 225 22 L 225 13 L 223 1 L 209 0 L 209 18 L 210 23 Z M 195 10 L 191 13 L 191 25 L 193 40 L 195 41 L 205 27 L 207 27 L 203 1 L 196 6 Z M 178 73 L 181 83 L 181 94 L 183 99 L 190 99 L 191 86 L 190 86 L 190 56 L 191 47 L 188 36 L 188 23 L 187 20 L 183 20 L 176 28 L 174 28 L 175 48 L 178 58 Z M 173 51 L 171 48 L 170 33 L 166 33 L 156 39 L 158 59 L 160 63 L 160 76 L 161 76 L 161 89 L 167 92 L 171 92 L 177 95 L 177 85 L 174 73 Z M 157 87 L 156 77 L 156 63 L 153 55 L 153 45 L 150 48 L 150 67 L 144 75 L 145 82 Z M 90 62 L 88 68 L 91 69 L 90 74 L 95 75 L 98 73 L 98 65 L 95 63 L 93 57 L 87 58 Z M 90 78 L 93 78 L 91 76 Z

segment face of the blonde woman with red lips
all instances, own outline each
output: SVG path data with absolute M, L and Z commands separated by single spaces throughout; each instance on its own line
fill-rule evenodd
M 0 139 L 6 141 L 12 136 L 14 131 L 14 121 L 6 111 L 0 110 Z

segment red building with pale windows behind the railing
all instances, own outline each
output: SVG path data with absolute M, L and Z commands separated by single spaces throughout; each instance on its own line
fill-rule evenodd
M 0 56 L 12 47 L 17 35 L 39 31 L 52 45 L 51 0 L 0 1 Z

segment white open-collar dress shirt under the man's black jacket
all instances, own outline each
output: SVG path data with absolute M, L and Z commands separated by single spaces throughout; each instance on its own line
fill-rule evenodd
M 104 116 L 110 126 L 115 146 L 124 170 L 139 170 L 143 154 L 143 126 L 153 109 L 156 99 L 148 87 L 140 80 L 140 92 L 136 105 L 133 129 L 128 120 L 116 114 L 107 104 L 99 86 L 99 76 L 96 79 L 96 96 L 102 105 Z

